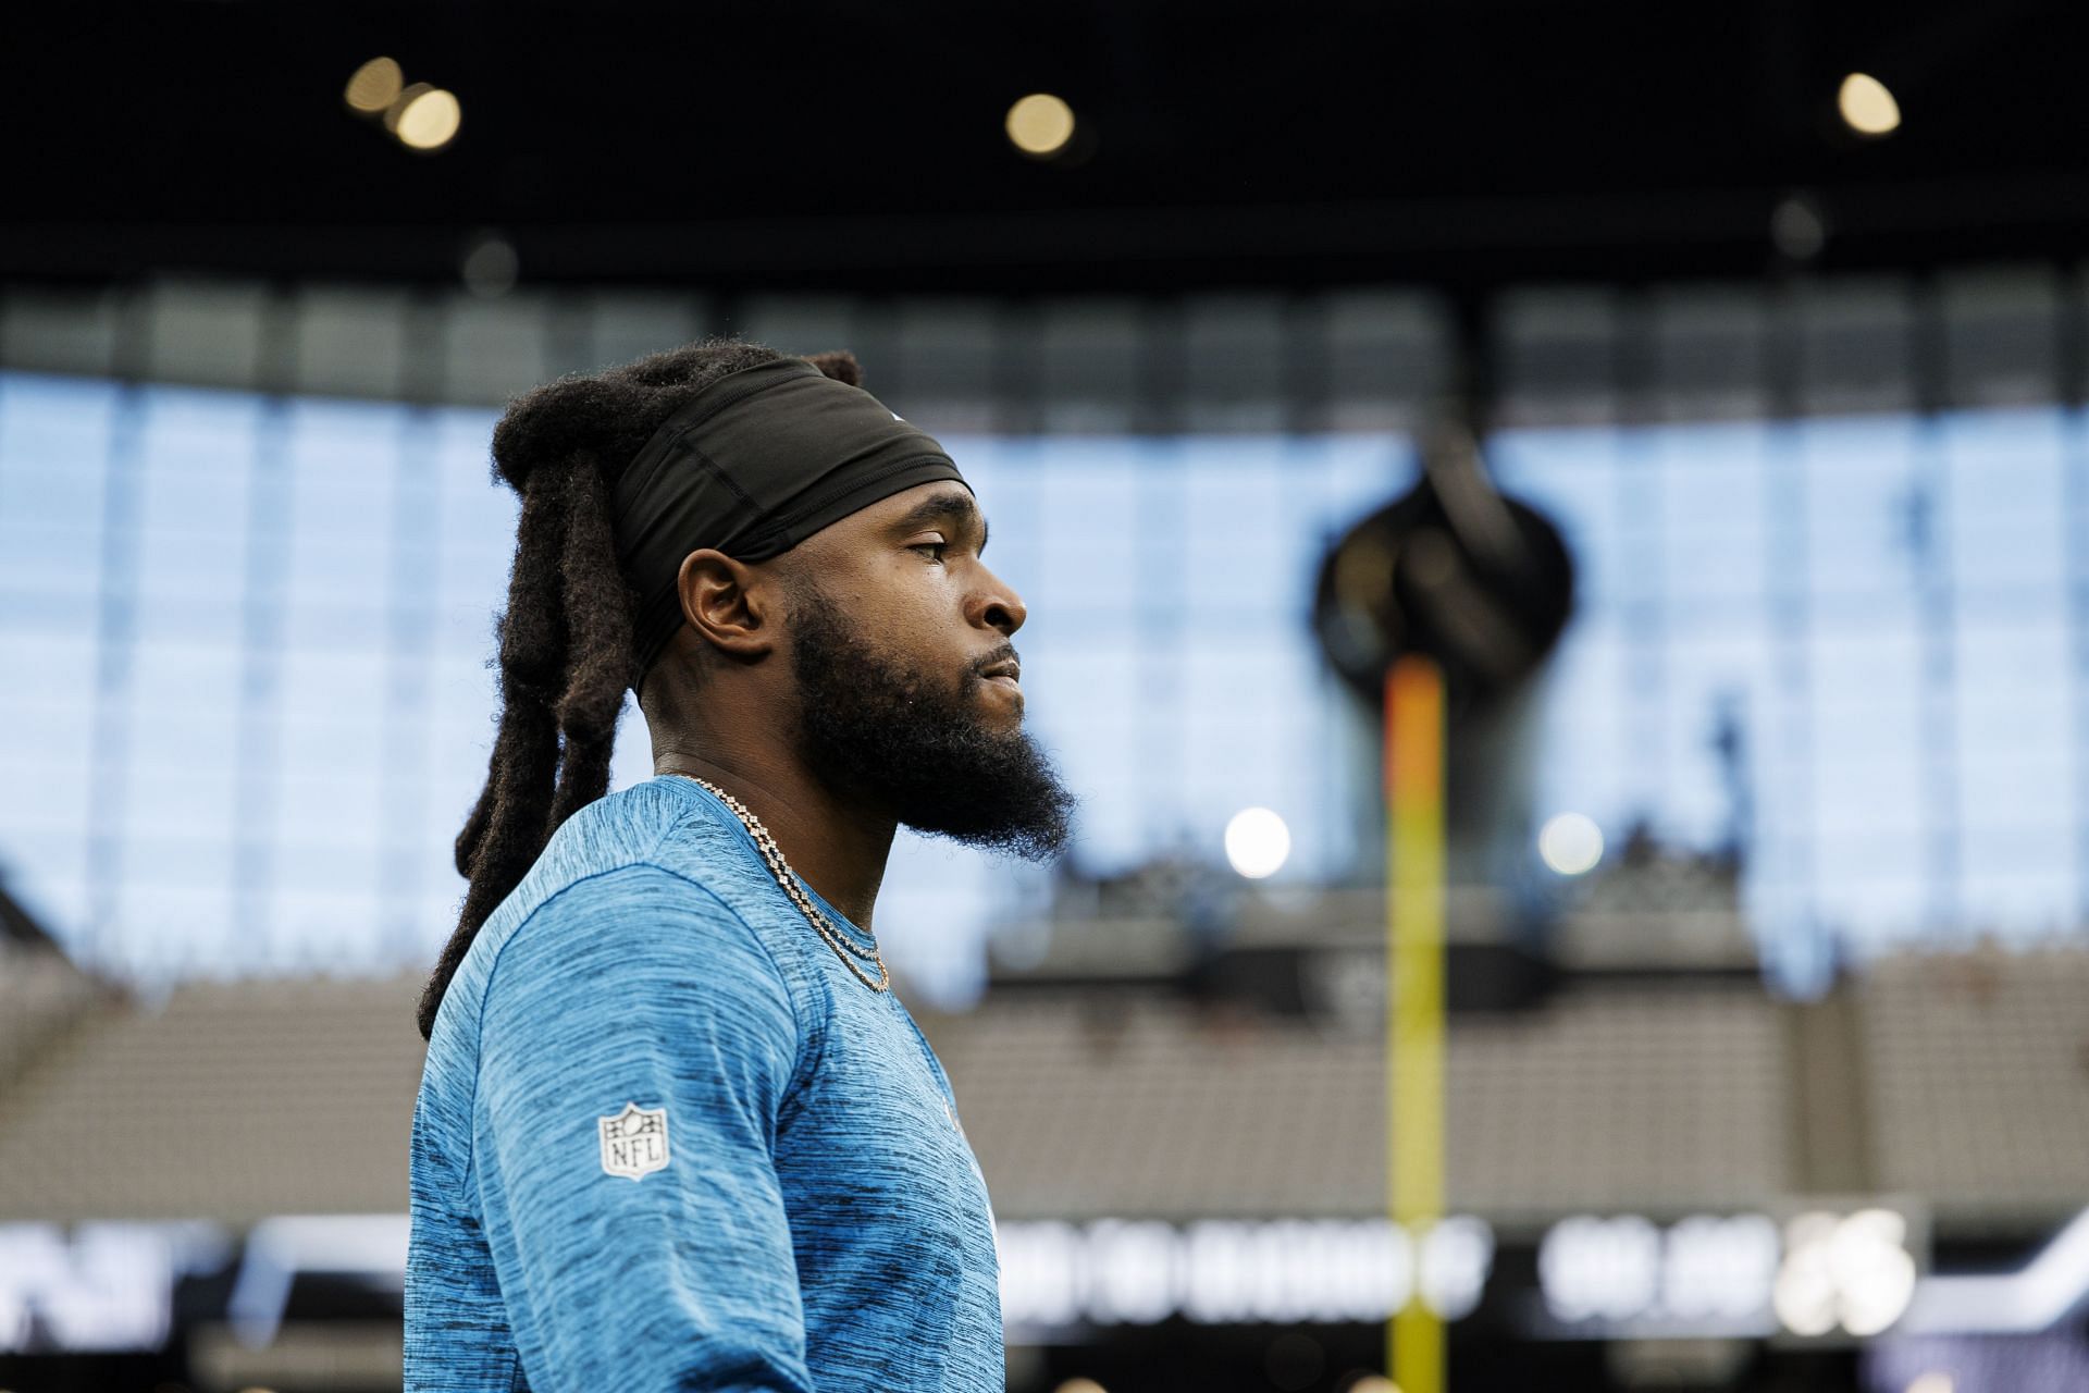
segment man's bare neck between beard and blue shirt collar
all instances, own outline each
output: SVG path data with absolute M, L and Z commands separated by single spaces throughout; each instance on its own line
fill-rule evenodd
M 871 931 L 896 829 L 890 817 L 842 800 L 800 760 L 723 731 L 656 737 L 654 773 L 696 775 L 737 798 L 775 837 L 790 869 Z

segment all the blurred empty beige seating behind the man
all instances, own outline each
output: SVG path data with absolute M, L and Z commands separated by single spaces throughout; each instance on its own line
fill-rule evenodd
M 96 1000 L 48 954 L 0 973 L 0 1211 L 33 1220 L 401 1211 L 416 975 L 198 982 Z M 1456 1017 L 1450 1197 L 1496 1224 L 1688 1213 L 1803 1190 L 1799 1013 L 1849 1007 L 1882 1190 L 1955 1222 L 2070 1213 L 2089 1155 L 2089 952 L 1897 954 L 1834 1002 L 1588 982 Z M 1370 1034 L 1145 990 L 921 1015 L 1005 1218 L 1368 1215 Z M 69 1028 L 71 1025 L 71 1028 Z M 1820 1061 L 1811 1061 L 1815 1067 Z

